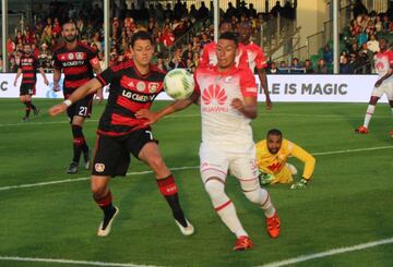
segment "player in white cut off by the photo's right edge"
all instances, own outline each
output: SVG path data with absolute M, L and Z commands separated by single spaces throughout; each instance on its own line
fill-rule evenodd
M 388 49 L 388 43 L 381 38 L 379 41 L 380 52 L 376 56 L 374 66 L 379 78 L 374 84 L 371 93 L 369 106 L 366 111 L 365 122 L 361 126 L 355 130 L 356 133 L 367 134 L 368 125 L 376 110 L 376 105 L 383 94 L 386 94 L 389 105 L 393 116 L 393 51 Z M 393 131 L 390 132 L 393 137 Z

